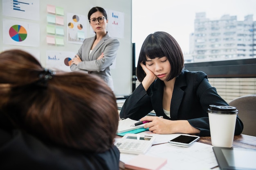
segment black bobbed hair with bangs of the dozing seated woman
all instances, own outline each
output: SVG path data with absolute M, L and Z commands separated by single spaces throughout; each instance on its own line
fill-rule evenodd
M 159 31 L 150 34 L 142 44 L 137 64 L 137 78 L 140 82 L 146 76 L 140 65 L 140 63 L 146 62 L 146 57 L 150 59 L 167 57 L 171 64 L 171 73 L 168 75 L 167 81 L 180 75 L 184 68 L 184 58 L 180 45 L 166 32 Z

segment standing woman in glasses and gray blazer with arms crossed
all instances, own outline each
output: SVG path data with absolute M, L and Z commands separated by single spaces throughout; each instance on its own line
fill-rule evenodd
M 96 35 L 83 41 L 78 53 L 72 59 L 70 69 L 95 74 L 101 77 L 114 91 L 110 65 L 117 57 L 119 41 L 110 37 L 106 31 L 108 17 L 103 8 L 93 7 L 90 9 L 88 20 Z

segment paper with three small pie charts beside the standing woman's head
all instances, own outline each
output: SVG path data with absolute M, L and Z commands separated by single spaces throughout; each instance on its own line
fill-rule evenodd
M 86 33 L 85 15 L 67 13 L 67 41 L 73 44 L 82 44 Z

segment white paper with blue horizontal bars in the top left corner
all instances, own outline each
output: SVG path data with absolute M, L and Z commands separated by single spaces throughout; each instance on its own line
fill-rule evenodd
M 39 20 L 39 0 L 2 0 L 3 15 Z

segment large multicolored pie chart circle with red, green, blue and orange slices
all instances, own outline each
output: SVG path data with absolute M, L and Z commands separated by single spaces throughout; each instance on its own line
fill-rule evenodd
M 27 38 L 27 30 L 21 25 L 13 25 L 9 29 L 9 35 L 14 41 L 24 41 Z

